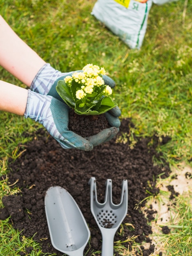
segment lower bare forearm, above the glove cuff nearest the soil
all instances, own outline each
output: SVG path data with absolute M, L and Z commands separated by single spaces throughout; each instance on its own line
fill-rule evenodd
M 0 110 L 24 115 L 27 95 L 26 89 L 0 81 Z

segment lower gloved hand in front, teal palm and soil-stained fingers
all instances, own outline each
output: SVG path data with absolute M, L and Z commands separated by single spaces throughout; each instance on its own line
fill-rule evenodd
M 24 116 L 42 124 L 63 148 L 89 151 L 94 146 L 108 141 L 118 132 L 118 128 L 112 127 L 85 139 L 68 129 L 69 107 L 65 103 L 31 90 L 28 90 Z

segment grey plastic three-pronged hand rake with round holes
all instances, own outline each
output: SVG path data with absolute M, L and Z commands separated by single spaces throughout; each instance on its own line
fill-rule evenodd
M 97 200 L 96 179 L 89 180 L 91 192 L 91 211 L 102 234 L 101 256 L 113 256 L 114 236 L 127 214 L 128 207 L 128 185 L 127 180 L 123 180 L 121 202 L 112 202 L 112 180 L 107 179 L 105 183 L 105 201 L 99 203 Z

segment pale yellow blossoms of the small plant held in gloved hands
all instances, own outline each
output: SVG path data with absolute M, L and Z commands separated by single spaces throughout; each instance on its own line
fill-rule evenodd
M 87 94 L 94 92 L 94 86 L 104 85 L 105 82 L 100 75 L 105 75 L 105 69 L 93 64 L 87 64 L 83 67 L 83 72 L 74 72 L 71 76 L 65 77 L 65 83 L 69 86 L 74 80 L 80 84 L 79 90 L 76 91 L 76 98 L 83 99 Z M 112 94 L 112 89 L 107 85 L 104 94 Z

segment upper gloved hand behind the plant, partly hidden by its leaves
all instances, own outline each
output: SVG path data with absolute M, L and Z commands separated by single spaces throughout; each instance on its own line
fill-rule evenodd
M 82 70 L 79 70 L 79 72 Z M 63 99 L 59 96 L 56 91 L 56 85 L 59 80 L 63 80 L 65 76 L 69 76 L 70 74 L 74 73 L 67 72 L 62 73 L 58 70 L 55 70 L 49 63 L 46 63 L 36 74 L 33 82 L 31 83 L 31 90 L 38 92 L 44 95 L 51 95 L 54 98 L 63 102 Z M 111 88 L 115 87 L 115 82 L 109 76 L 103 75 L 103 80 L 105 81 L 106 85 L 109 85 Z M 105 113 L 109 124 L 112 127 L 118 128 L 121 125 L 120 120 L 118 117 L 121 115 L 121 110 L 116 106 Z

